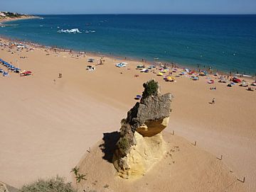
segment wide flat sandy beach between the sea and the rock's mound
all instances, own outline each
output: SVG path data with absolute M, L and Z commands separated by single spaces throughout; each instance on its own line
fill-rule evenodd
M 103 132 L 119 130 L 120 120 L 137 102 L 134 97 L 142 94 L 142 84 L 154 78 L 163 93 L 174 95 L 166 131 L 196 141 L 215 157 L 223 155 L 238 179 L 245 176 L 247 191 L 256 190 L 256 91 L 230 88 L 214 76 L 214 84 L 207 84 L 207 77 L 164 81 L 153 72 L 139 72 L 142 62 L 114 57 L 104 57 L 104 64 L 88 71 L 87 65 L 97 64 L 100 56 L 0 48 L 1 59 L 33 72 L 0 77 L 0 181 L 20 187 L 56 174 L 70 181 L 70 169 Z M 87 62 L 89 58 L 95 62 Z M 127 67 L 115 67 L 118 62 L 127 62 Z M 214 105 L 209 103 L 213 98 Z

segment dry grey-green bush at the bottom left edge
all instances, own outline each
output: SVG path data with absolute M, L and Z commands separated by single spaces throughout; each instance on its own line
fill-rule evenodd
M 23 186 L 18 192 L 75 192 L 75 189 L 71 183 L 65 183 L 63 178 L 56 176 L 54 179 L 39 179 Z

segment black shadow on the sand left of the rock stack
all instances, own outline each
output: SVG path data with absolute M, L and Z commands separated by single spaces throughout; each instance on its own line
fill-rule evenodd
M 107 162 L 112 163 L 114 150 L 116 149 L 116 144 L 119 138 L 120 138 L 120 133 L 117 131 L 103 133 L 102 140 L 104 141 L 104 143 L 99 145 L 99 147 L 104 153 L 104 156 L 102 158 L 107 160 Z

